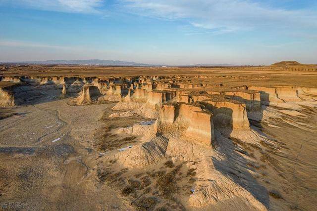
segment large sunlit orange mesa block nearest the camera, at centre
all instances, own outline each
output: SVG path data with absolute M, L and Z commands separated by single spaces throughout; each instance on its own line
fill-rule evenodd
M 212 114 L 199 106 L 184 103 L 162 105 L 158 131 L 185 135 L 207 145 L 214 140 Z

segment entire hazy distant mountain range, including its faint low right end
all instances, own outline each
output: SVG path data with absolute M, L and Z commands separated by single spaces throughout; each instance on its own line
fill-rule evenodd
M 101 66 L 131 66 L 131 67 L 161 67 L 170 65 L 161 64 L 143 64 L 136 62 L 127 62 L 119 60 L 102 60 L 102 59 L 88 59 L 88 60 L 46 60 L 46 61 L 21 61 L 21 62 L 0 62 L 0 64 L 73 64 L 73 65 L 101 65 Z M 237 66 L 232 64 L 194 64 L 194 65 L 175 65 L 180 67 L 206 67 L 206 66 Z

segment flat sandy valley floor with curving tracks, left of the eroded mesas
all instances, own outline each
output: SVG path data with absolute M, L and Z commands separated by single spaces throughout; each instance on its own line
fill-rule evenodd
M 111 104 L 66 102 L 14 108 L 18 115 L 1 121 L 1 201 L 44 210 L 129 209 L 96 179 L 92 139 Z

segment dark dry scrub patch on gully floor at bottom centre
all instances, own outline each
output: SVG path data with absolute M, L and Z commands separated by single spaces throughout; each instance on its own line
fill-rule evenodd
M 195 181 L 195 169 L 188 169 L 185 163 L 176 165 L 165 160 L 137 173 L 128 169 L 112 172 L 116 169 L 115 164 L 115 161 L 109 161 L 106 169 L 99 169 L 99 180 L 119 189 L 136 210 L 184 210 L 175 196 L 189 197 L 191 187 L 188 184 Z

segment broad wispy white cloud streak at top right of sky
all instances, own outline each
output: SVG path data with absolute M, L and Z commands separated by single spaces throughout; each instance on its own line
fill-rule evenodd
M 251 0 L 121 0 L 138 15 L 184 19 L 197 28 L 234 32 L 254 28 L 317 28 L 317 12 L 272 8 Z

